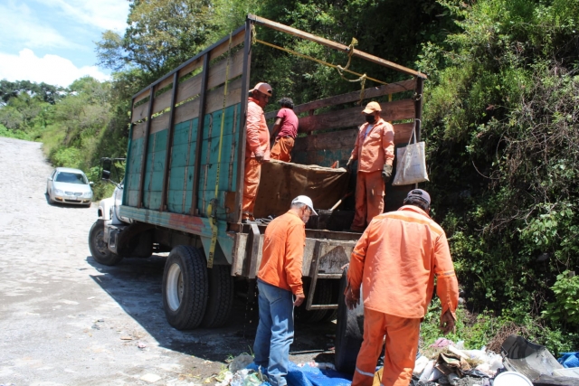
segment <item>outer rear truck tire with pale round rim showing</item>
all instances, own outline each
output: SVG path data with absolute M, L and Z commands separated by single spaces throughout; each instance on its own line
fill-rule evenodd
M 190 330 L 203 320 L 209 280 L 201 250 L 178 245 L 166 259 L 163 272 L 163 308 L 169 325 Z

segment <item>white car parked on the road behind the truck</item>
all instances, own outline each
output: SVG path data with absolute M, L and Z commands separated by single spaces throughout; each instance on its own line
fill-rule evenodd
M 76 203 L 90 206 L 92 200 L 92 183 L 79 169 L 57 167 L 46 182 L 48 201 Z

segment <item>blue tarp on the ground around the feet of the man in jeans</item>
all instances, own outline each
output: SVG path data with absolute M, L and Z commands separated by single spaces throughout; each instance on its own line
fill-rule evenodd
M 255 363 L 247 366 L 248 369 L 257 372 Z M 261 372 L 267 375 L 267 370 L 261 368 Z M 318 367 L 311 367 L 305 364 L 299 367 L 294 362 L 289 362 L 288 386 L 350 386 L 352 377 L 335 370 L 320 370 Z M 262 386 L 268 386 L 268 382 L 263 382 Z

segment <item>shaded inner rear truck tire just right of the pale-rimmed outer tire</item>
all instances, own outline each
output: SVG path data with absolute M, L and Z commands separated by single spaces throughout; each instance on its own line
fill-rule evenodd
M 209 297 L 201 325 L 216 328 L 229 321 L 233 306 L 233 277 L 231 266 L 207 268 L 209 278 Z

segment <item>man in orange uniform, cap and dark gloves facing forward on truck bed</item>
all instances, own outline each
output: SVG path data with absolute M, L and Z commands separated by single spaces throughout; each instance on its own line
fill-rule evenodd
M 356 212 L 351 231 L 364 231 L 375 216 L 384 212 L 384 187 L 390 181 L 394 162 L 394 127 L 380 118 L 381 111 L 378 102 L 366 105 L 362 111 L 366 123 L 360 127 L 347 160 L 348 170 L 358 161 Z

